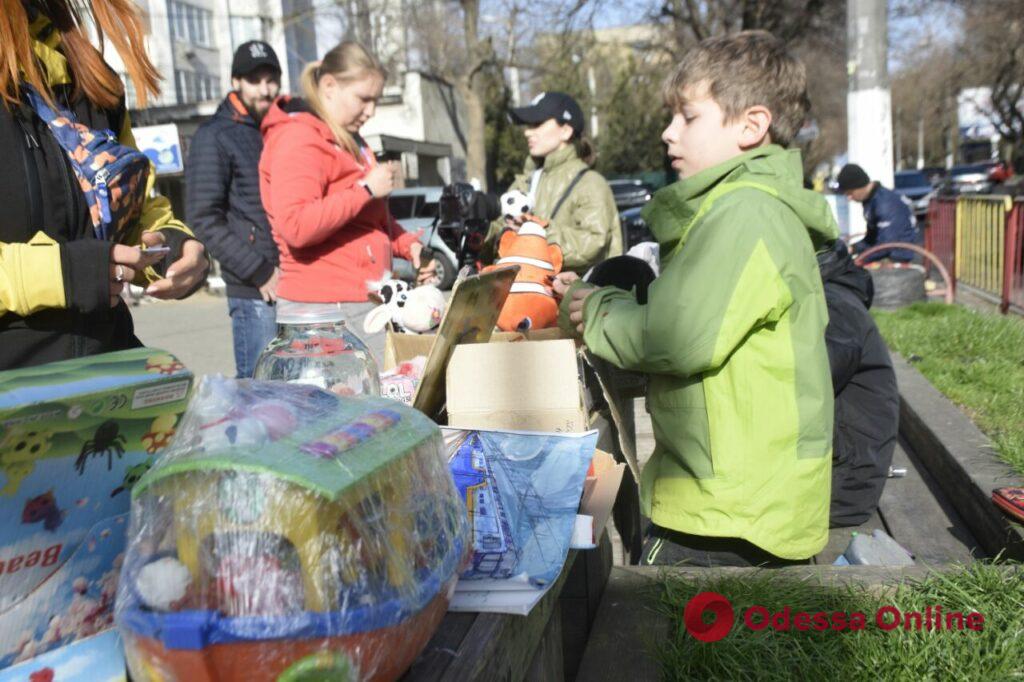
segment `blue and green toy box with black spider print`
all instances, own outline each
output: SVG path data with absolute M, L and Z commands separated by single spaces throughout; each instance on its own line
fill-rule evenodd
M 128 512 L 129 491 L 171 441 L 191 383 L 154 348 L 0 373 L 0 669 L 98 632 L 47 636 L 60 606 L 39 595 L 82 588 L 88 571 L 66 570 L 81 551 L 93 552 L 90 571 L 116 568 L 121 550 L 95 547 L 123 548 L 125 524 L 103 524 Z

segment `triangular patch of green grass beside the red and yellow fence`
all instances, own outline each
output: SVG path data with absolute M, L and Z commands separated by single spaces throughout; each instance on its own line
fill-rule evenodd
M 1024 319 L 959 305 L 874 312 L 889 344 L 958 404 L 1024 473 Z

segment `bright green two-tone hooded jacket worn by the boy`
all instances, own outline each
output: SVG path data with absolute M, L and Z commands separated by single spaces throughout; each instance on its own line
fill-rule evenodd
M 815 251 L 839 230 L 802 177 L 799 152 L 768 145 L 658 191 L 644 210 L 662 249 L 647 304 L 604 288 L 584 306 L 591 351 L 650 374 L 644 513 L 786 559 L 827 541 L 831 466 Z

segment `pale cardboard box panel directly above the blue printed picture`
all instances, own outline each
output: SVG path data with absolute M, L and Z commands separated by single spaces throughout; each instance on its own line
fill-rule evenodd
M 568 339 L 457 346 L 447 368 L 449 424 L 580 433 L 587 410 Z

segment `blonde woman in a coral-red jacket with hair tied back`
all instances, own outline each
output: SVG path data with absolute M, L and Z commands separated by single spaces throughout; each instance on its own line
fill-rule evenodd
M 343 42 L 306 67 L 303 97 L 282 97 L 262 124 L 260 195 L 281 251 L 279 300 L 340 304 L 353 327 L 392 255 L 427 275 L 418 236 L 388 211 L 394 170 L 359 136 L 385 77 L 361 45 Z

